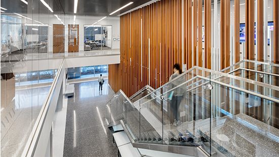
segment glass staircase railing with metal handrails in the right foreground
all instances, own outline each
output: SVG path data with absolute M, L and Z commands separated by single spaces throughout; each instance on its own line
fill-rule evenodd
M 119 91 L 108 105 L 121 95 L 123 112 L 107 121 L 123 120 L 135 143 L 200 147 L 208 156 L 276 156 L 279 91 L 270 87 L 193 67 L 135 102 Z

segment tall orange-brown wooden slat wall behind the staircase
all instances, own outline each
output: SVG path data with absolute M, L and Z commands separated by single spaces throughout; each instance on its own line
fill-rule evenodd
M 258 0 L 258 3 L 260 4 L 261 1 Z M 192 0 L 162 0 L 122 15 L 120 17 L 121 61 L 118 65 L 109 65 L 109 84 L 113 90 L 117 92 L 122 89 L 127 96 L 131 96 L 149 84 L 149 72 L 150 86 L 158 88 L 168 82 L 169 76 L 173 73 L 173 64 L 179 63 L 181 67 L 183 64 L 187 64 L 186 70 L 191 68 L 192 65 L 202 66 L 202 20 L 204 20 L 205 26 L 204 63 L 205 68 L 211 69 L 211 2 L 211 0 L 204 0 L 204 19 L 202 19 L 202 1 L 199 0 L 193 2 Z M 230 63 L 230 2 L 224 0 L 221 3 L 220 29 L 222 43 L 220 46 L 222 50 L 220 52 L 223 53 L 224 57 L 220 58 L 224 58 L 221 68 L 225 68 Z M 235 62 L 238 62 L 239 0 L 235 0 L 234 4 L 234 58 Z M 278 2 L 274 0 L 274 42 L 278 43 L 279 20 L 277 19 L 278 9 L 275 9 L 276 5 L 278 5 Z M 262 11 L 259 10 L 259 12 Z M 258 16 L 258 18 L 261 17 Z M 260 22 L 261 19 L 258 21 Z M 258 29 L 260 29 L 259 26 Z M 254 60 L 253 0 L 246 0 L 246 33 L 246 59 Z M 260 36 L 261 30 L 258 33 L 258 36 Z M 196 38 L 198 38 L 198 41 Z M 258 41 L 260 42 L 261 38 L 258 38 Z M 278 45 L 274 44 L 274 52 L 278 52 Z M 196 47 L 198 47 L 197 51 Z M 259 48 L 258 50 L 261 51 L 262 48 L 260 46 Z M 262 55 L 260 54 L 260 56 Z M 278 53 L 274 53 L 274 57 L 274 62 L 278 64 Z

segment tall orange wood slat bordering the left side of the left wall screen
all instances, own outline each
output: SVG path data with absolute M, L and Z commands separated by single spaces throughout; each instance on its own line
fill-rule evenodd
M 234 0 L 234 63 L 240 61 L 240 0 Z

